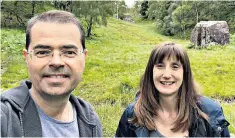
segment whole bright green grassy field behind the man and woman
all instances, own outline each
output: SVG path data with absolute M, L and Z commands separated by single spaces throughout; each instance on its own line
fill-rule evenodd
M 140 77 L 144 73 L 151 50 L 157 43 L 173 41 L 185 48 L 188 40 L 162 36 L 153 23 L 133 24 L 109 19 L 108 26 L 97 26 L 93 38 L 86 41 L 88 56 L 83 81 L 74 94 L 89 101 L 101 118 L 104 136 L 114 136 L 120 116 L 134 101 Z M 22 49 L 24 32 L 2 29 L 2 91 L 27 79 Z M 195 79 L 203 94 L 223 100 L 235 97 L 235 35 L 230 45 L 208 49 L 188 49 Z M 235 133 L 235 104 L 221 104 Z

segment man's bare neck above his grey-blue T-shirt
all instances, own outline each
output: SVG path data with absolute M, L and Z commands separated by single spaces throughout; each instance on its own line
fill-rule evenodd
M 48 116 L 63 122 L 71 122 L 73 120 L 73 108 L 69 97 L 60 99 L 50 98 L 48 100 L 43 98 L 42 94 L 39 94 L 33 88 L 31 95 L 34 102 Z

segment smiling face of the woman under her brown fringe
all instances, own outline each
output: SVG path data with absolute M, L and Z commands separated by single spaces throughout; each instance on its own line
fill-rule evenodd
M 153 81 L 160 95 L 173 95 L 183 82 L 183 66 L 176 58 L 164 58 L 153 67 Z

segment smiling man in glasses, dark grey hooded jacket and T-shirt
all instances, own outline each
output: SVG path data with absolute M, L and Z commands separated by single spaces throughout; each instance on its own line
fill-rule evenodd
M 1 136 L 101 137 L 96 113 L 71 94 L 87 55 L 78 19 L 65 11 L 30 19 L 23 53 L 31 81 L 1 95 Z

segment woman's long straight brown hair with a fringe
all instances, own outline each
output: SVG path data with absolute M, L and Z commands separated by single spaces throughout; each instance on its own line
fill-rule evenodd
M 134 117 L 129 122 L 138 126 L 145 126 L 148 130 L 155 129 L 154 117 L 158 116 L 160 108 L 159 92 L 155 88 L 153 80 L 153 67 L 161 63 L 167 57 L 175 57 L 183 66 L 183 82 L 178 91 L 178 115 L 174 122 L 173 132 L 186 131 L 189 129 L 193 110 L 197 110 L 199 115 L 207 119 L 198 107 L 197 101 L 199 89 L 193 79 L 190 62 L 186 51 L 174 43 L 164 43 L 152 50 L 145 73 L 140 81 L 140 96 L 134 106 Z

